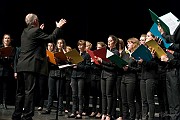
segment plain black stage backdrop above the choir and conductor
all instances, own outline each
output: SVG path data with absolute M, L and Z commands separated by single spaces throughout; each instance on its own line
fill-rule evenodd
M 45 31 L 51 33 L 55 21 L 65 18 L 63 38 L 76 47 L 79 39 L 93 43 L 107 43 L 110 34 L 126 41 L 147 33 L 153 24 L 148 9 L 158 16 L 172 12 L 180 18 L 179 0 L 1 0 L 0 37 L 10 33 L 16 46 L 25 27 L 24 18 L 29 12 L 36 13 Z

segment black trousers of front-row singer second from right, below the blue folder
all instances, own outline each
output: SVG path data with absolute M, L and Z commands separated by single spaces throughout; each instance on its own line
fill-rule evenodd
M 155 115 L 155 80 L 143 79 L 140 81 L 140 90 L 142 98 L 142 119 L 146 119 L 149 112 L 149 120 L 154 119 Z

